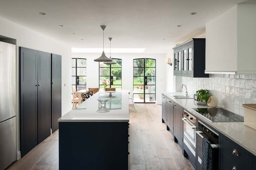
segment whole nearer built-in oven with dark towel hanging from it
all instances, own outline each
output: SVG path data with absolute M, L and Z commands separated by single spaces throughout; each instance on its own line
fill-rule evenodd
M 211 144 L 211 153 L 212 153 L 212 168 L 218 169 L 218 144 L 219 144 L 219 134 L 216 133 L 211 128 L 207 127 L 201 121 L 198 121 L 199 131 L 196 131 L 197 134 L 197 169 L 201 170 L 202 158 L 206 155 L 203 155 L 203 138 L 206 138 Z M 207 155 L 208 156 L 208 155 Z

